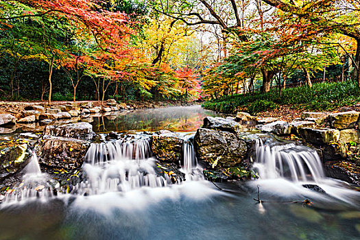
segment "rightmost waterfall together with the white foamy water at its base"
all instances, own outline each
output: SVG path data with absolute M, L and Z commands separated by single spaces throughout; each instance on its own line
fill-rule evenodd
M 255 155 L 253 168 L 260 179 L 250 184 L 260 186 L 261 191 L 272 197 L 296 195 L 319 199 L 317 191 L 305 188 L 317 186 L 322 189 L 322 194 L 326 193 L 326 197 L 320 197 L 324 202 L 336 199 L 352 206 L 359 204 L 357 191 L 347 189 L 345 182 L 326 178 L 320 157 L 314 149 L 293 143 L 280 144 L 272 139 L 263 143 L 259 139 Z

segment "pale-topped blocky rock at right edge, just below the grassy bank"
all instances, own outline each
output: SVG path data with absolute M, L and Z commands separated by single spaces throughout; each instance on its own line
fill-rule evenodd
M 332 128 L 344 130 L 348 128 L 355 128 L 360 112 L 338 112 L 328 117 Z

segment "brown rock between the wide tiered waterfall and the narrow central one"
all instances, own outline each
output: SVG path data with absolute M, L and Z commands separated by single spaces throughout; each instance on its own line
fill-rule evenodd
M 152 152 L 163 162 L 180 163 L 183 143 L 174 132 L 151 136 Z

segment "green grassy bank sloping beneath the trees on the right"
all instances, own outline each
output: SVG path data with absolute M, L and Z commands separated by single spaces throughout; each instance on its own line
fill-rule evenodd
M 341 106 L 352 106 L 360 102 L 360 88 L 354 82 L 313 84 L 312 88 L 301 86 L 287 88 L 279 96 L 277 89 L 269 93 L 247 93 L 221 97 L 206 101 L 203 107 L 217 112 L 235 114 L 238 111 L 258 112 L 273 110 L 287 105 L 293 109 L 335 110 Z

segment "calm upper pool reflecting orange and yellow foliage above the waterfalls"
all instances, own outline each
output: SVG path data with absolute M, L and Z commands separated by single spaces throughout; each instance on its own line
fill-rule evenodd
M 93 117 L 95 132 L 126 132 L 171 130 L 193 132 L 200 128 L 206 116 L 221 116 L 204 110 L 201 106 L 176 106 L 135 111 L 117 112 L 116 115 Z

